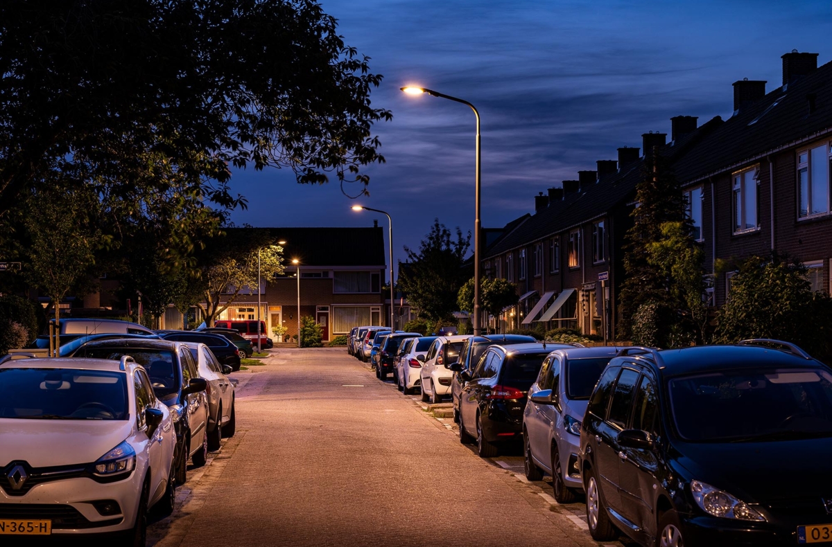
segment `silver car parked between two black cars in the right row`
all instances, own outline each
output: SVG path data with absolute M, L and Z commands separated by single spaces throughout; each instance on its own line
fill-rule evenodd
M 592 388 L 617 352 L 614 347 L 557 349 L 543 361 L 528 391 L 522 419 L 526 478 L 552 476 L 558 503 L 572 503 L 583 490 L 577 463 L 581 422 Z

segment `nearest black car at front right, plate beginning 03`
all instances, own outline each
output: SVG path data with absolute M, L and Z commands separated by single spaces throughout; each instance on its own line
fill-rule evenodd
M 622 353 L 581 430 L 595 540 L 618 529 L 641 545 L 832 541 L 829 367 L 762 340 Z

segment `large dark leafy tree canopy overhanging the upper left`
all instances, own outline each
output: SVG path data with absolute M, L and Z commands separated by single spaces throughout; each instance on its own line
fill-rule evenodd
M 230 166 L 366 192 L 368 61 L 314 0 L 0 2 L 0 216 L 56 174 L 221 209 Z

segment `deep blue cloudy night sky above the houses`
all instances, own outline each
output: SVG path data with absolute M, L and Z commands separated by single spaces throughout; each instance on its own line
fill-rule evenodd
M 290 170 L 238 171 L 232 190 L 254 226 L 385 228 L 394 254 L 418 248 L 433 219 L 473 229 L 474 116 L 467 106 L 407 96 L 419 85 L 477 106 L 483 135 L 483 227 L 533 212 L 533 196 L 596 160 L 615 160 L 641 134 L 670 139 L 671 116 L 727 119 L 731 83 L 781 84 L 780 56 L 796 49 L 832 59 L 832 2 L 524 2 L 330 0 L 349 46 L 384 75 L 373 106 L 394 119 L 374 126 L 384 165 L 368 170 L 369 198 L 349 200 L 337 180 L 295 183 Z M 350 195 L 359 187 L 344 185 Z M 386 237 L 386 230 L 385 230 Z M 286 248 L 291 255 L 291 244 Z

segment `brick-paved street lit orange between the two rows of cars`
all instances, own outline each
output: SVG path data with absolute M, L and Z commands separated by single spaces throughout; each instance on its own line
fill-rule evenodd
M 343 348 L 265 362 L 235 374 L 237 434 L 148 545 L 601 545 L 522 457 L 479 458 Z

